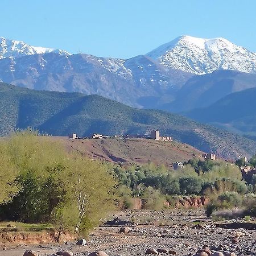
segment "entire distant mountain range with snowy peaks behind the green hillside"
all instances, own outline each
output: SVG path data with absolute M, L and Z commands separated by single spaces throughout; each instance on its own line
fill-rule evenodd
M 243 125 L 236 124 L 238 119 L 224 123 L 217 113 L 214 120 L 204 114 L 209 109 L 214 113 L 213 108 L 222 111 L 221 102 L 226 97 L 233 102 L 233 93 L 256 88 L 256 54 L 223 38 L 180 36 L 130 59 L 70 55 L 0 38 L 0 81 L 36 90 L 98 94 L 135 108 L 188 115 L 255 139 L 250 104 L 243 104 L 244 115 L 251 113 Z M 240 113 L 241 100 L 232 103 L 234 113 Z

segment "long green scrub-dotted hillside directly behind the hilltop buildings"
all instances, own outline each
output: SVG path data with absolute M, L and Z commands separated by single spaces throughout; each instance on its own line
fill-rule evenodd
M 43 133 L 172 135 L 204 152 L 224 158 L 254 154 L 256 142 L 160 110 L 135 109 L 107 98 L 79 93 L 36 91 L 0 84 L 0 134 L 28 126 Z

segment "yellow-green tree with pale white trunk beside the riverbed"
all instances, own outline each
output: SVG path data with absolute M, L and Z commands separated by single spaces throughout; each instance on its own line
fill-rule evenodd
M 75 155 L 68 163 L 63 183 L 68 189 L 68 202 L 76 205 L 76 232 L 86 232 L 113 209 L 117 183 L 101 162 Z

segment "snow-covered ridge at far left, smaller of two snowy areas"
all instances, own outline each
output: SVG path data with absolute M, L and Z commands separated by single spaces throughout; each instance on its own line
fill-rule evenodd
M 5 57 L 15 58 L 24 55 L 48 52 L 56 52 L 60 55 L 70 55 L 70 53 L 60 49 L 29 46 L 22 41 L 10 40 L 0 37 L 0 59 Z

